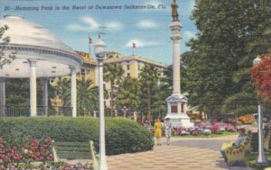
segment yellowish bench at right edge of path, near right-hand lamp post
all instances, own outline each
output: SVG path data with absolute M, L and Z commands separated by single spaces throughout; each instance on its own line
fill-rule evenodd
M 226 161 L 228 166 L 245 166 L 246 153 L 250 152 L 251 133 L 248 132 L 242 144 L 225 148 Z

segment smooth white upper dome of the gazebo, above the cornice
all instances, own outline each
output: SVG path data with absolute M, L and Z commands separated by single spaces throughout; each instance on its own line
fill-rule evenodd
M 0 25 L 7 25 L 8 30 L 5 36 L 9 36 L 12 44 L 37 44 L 42 47 L 61 49 L 69 52 L 73 50 L 58 40 L 51 34 L 50 31 L 43 28 L 41 25 L 33 22 L 28 22 L 20 15 L 5 15 L 4 19 L 0 20 Z

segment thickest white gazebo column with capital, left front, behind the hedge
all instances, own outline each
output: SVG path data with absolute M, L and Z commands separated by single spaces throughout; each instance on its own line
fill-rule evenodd
M 37 60 L 31 58 L 28 60 L 30 65 L 30 116 L 37 115 Z

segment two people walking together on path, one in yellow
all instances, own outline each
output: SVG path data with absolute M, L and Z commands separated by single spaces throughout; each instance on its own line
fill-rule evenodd
M 162 131 L 164 130 L 164 135 L 166 138 L 167 145 L 170 145 L 170 138 L 172 137 L 172 124 L 169 118 L 164 119 L 164 123 L 161 122 L 161 118 L 157 117 L 157 121 L 154 123 L 154 137 L 156 138 L 156 142 L 158 146 L 161 146 L 161 137 Z

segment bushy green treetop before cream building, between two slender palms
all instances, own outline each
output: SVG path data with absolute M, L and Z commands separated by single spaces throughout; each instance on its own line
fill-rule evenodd
M 141 100 L 141 85 L 138 79 L 126 76 L 119 86 L 117 106 L 126 106 L 129 110 L 137 111 Z

